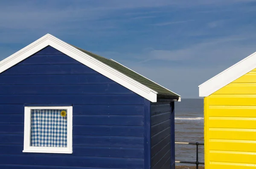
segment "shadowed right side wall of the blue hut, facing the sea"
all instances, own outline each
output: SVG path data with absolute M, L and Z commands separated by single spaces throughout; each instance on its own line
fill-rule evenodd
M 151 168 L 175 169 L 173 102 L 151 103 Z

